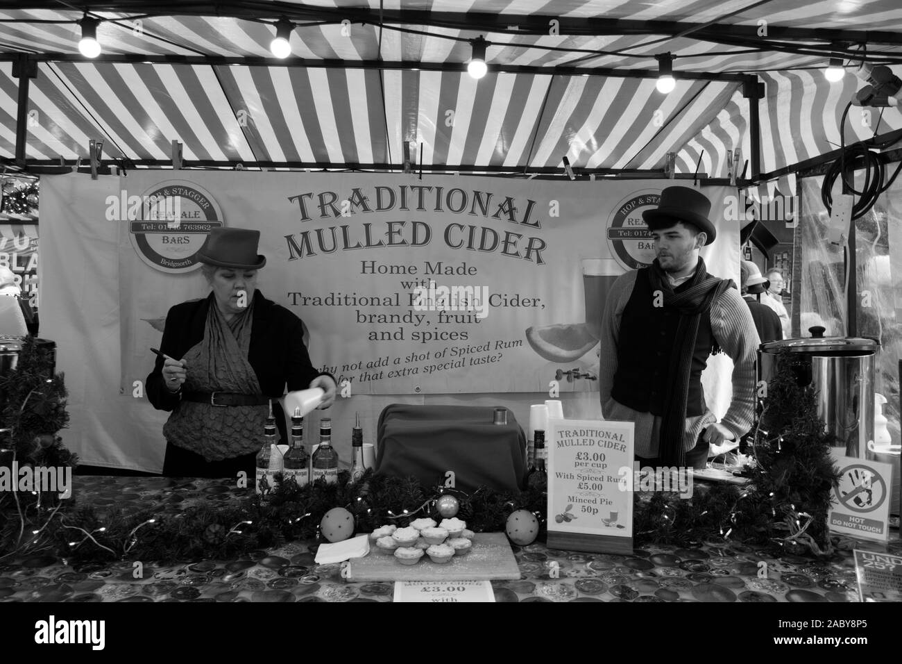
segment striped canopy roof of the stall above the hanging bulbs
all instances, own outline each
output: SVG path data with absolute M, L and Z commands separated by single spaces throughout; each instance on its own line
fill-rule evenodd
M 19 20 L 0 23 L 0 157 L 15 151 L 15 53 L 39 60 L 27 102 L 25 157 L 34 164 L 85 157 L 90 139 L 104 142 L 105 158 L 170 164 L 178 140 L 184 160 L 209 165 L 400 168 L 412 153 L 415 163 L 449 171 L 530 173 L 557 168 L 565 156 L 576 169 L 654 171 L 675 153 L 676 173 L 709 177 L 729 175 L 737 148 L 741 162 L 750 158 L 750 104 L 759 104 L 760 172 L 772 173 L 838 147 L 842 111 L 864 85 L 848 58 L 846 76 L 831 84 L 823 54 L 751 51 L 731 43 L 732 33 L 809 31 L 810 39 L 792 41 L 823 47 L 817 29 L 846 30 L 848 42 L 861 35 L 867 53 L 902 61 L 902 39 L 891 34 L 902 25 L 898 0 L 797 0 L 792 8 L 753 0 L 390 0 L 382 27 L 373 24 L 379 0 L 271 4 L 271 14 L 261 12 L 265 3 L 235 2 L 219 4 L 235 17 L 136 22 L 170 4 L 107 3 L 102 8 L 122 11 L 95 14 L 106 19 L 97 61 L 78 56 L 78 25 L 29 22 L 80 13 L 27 0 L 0 12 Z M 305 13 L 291 14 L 299 60 L 269 60 L 273 27 L 254 20 L 250 5 L 267 23 Z M 478 14 L 468 15 L 480 29 L 457 27 L 467 12 Z M 489 18 L 491 30 L 483 25 Z M 591 34 L 590 19 L 608 23 Z M 542 23 L 548 29 L 536 33 Z M 646 33 L 637 33 L 640 25 Z M 490 70 L 476 80 L 461 64 L 471 55 L 467 40 L 480 35 L 490 42 Z M 769 43 L 761 39 L 762 48 Z M 677 75 L 706 78 L 677 76 L 676 89 L 661 94 L 654 56 L 665 52 L 674 54 Z M 743 95 L 741 74 L 764 84 L 760 102 Z M 846 142 L 902 128 L 902 112 L 884 110 L 852 108 Z

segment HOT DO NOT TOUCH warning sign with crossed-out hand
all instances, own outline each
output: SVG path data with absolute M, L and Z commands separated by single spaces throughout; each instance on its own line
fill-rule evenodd
M 830 529 L 855 538 L 886 542 L 892 466 L 837 452 L 833 452 L 833 461 L 840 467 L 840 479 L 833 485 L 833 505 L 827 515 Z

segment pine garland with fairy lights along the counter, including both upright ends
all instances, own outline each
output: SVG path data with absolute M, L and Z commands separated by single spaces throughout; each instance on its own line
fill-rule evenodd
M 19 367 L 0 381 L 0 391 L 8 394 L 4 424 L 14 428 L 17 458 L 37 464 L 75 463 L 55 435 L 68 422 L 62 375 L 48 379 L 49 360 L 40 353 L 33 340 L 26 341 Z M 633 532 L 638 546 L 695 547 L 737 540 L 769 543 L 781 552 L 830 552 L 826 517 L 830 488 L 838 478 L 830 457 L 833 437 L 824 434 L 812 388 L 796 384 L 796 372 L 804 366 L 788 355 L 780 366 L 779 375 L 769 382 L 767 406 L 759 418 L 754 443 L 758 466 L 748 473 L 750 483 L 696 484 L 691 500 L 681 500 L 676 493 L 637 493 Z M 41 436 L 48 435 L 52 443 L 44 447 Z M 499 492 L 481 487 L 467 495 L 444 487 L 424 491 L 416 478 L 372 471 L 359 482 L 349 479 L 348 472 L 340 472 L 335 484 L 318 481 L 298 488 L 281 482 L 277 474 L 268 500 L 254 495 L 235 507 L 203 505 L 174 516 L 154 510 L 125 516 L 104 509 L 101 514 L 79 506 L 77 497 L 61 500 L 50 510 L 23 495 L 23 509 L 14 506 L 8 494 L 0 495 L 0 551 L 5 552 L 0 560 L 23 550 L 97 563 L 229 559 L 316 539 L 320 520 L 336 507 L 354 514 L 357 532 L 387 523 L 404 527 L 412 519 L 437 516 L 434 502 L 443 491 L 457 496 L 458 516 L 475 532 L 503 530 L 514 510 L 536 512 L 539 538 L 546 531 L 547 499 L 538 489 Z M 25 538 L 24 548 L 23 532 L 32 535 Z

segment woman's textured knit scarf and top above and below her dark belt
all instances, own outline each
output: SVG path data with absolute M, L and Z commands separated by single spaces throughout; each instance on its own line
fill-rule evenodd
M 226 321 L 219 311 L 213 294 L 208 300 L 204 339 L 183 358 L 188 373 L 183 388 L 262 395 L 260 382 L 247 360 L 253 300 L 231 321 Z M 208 462 L 230 459 L 260 449 L 267 413 L 265 406 L 219 407 L 182 401 L 163 426 L 163 435 L 170 443 L 200 454 Z

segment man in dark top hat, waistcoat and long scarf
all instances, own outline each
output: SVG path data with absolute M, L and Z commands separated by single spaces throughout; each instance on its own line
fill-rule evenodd
M 658 208 L 642 213 L 657 257 L 620 276 L 604 308 L 602 412 L 635 423 L 643 465 L 704 468 L 752 423 L 758 332 L 732 281 L 709 275 L 699 256 L 716 235 L 710 212 L 702 192 L 661 192 Z M 733 360 L 732 402 L 717 422 L 701 375 L 721 351 Z

